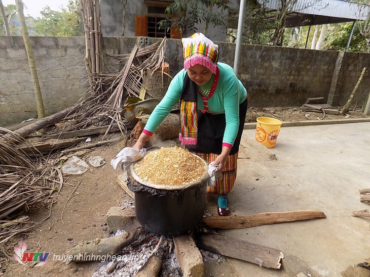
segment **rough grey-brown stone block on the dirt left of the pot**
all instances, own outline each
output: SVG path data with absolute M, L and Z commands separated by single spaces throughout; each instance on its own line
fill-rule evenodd
M 135 210 L 128 207 L 111 207 L 106 214 L 109 231 L 132 230 L 139 227 L 140 223 L 135 216 Z

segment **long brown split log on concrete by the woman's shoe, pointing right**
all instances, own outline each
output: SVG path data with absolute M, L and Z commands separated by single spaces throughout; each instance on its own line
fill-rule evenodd
M 326 215 L 319 210 L 271 212 L 237 216 L 208 216 L 202 218 L 202 222 L 211 228 L 232 229 L 316 218 L 326 218 Z

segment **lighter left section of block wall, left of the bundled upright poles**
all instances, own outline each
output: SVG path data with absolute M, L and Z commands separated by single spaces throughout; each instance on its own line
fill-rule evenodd
M 46 114 L 76 103 L 87 88 L 85 38 L 31 37 L 31 44 Z M 23 39 L 0 36 L 0 126 L 36 117 Z

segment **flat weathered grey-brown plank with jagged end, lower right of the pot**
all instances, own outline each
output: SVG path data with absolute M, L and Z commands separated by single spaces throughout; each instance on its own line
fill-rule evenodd
M 278 249 L 216 234 L 202 235 L 197 245 L 200 249 L 275 269 L 280 268 L 284 257 Z

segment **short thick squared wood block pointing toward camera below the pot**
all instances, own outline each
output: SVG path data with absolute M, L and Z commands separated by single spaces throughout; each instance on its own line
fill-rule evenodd
M 184 276 L 204 276 L 203 257 L 190 235 L 173 236 L 174 250 Z

